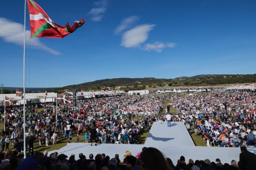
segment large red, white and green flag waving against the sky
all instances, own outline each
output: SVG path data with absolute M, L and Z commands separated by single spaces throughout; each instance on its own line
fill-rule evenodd
M 33 0 L 27 0 L 28 11 L 30 15 L 31 38 L 48 37 L 48 38 L 63 38 L 69 33 L 74 32 L 77 28 L 82 27 L 85 23 L 83 19 L 75 21 L 70 27 L 69 23 L 65 27 L 54 23 L 44 10 Z

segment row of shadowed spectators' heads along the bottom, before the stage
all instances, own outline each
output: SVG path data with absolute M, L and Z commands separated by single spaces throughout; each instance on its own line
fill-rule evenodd
M 88 157 L 87 157 L 88 156 Z M 127 150 L 124 156 L 115 154 L 113 156 L 106 154 L 81 153 L 78 156 L 71 154 L 69 157 L 65 154 L 54 152 L 48 155 L 47 151 L 28 152 L 26 159 L 23 154 L 14 151 L 5 151 L 0 154 L 0 169 L 4 170 L 252 170 L 256 167 L 256 155 L 241 147 L 239 161 L 231 160 L 230 163 L 221 163 L 219 158 L 211 162 L 209 159 L 193 160 L 186 162 L 184 156 L 177 160 L 177 164 L 156 148 L 143 147 L 138 154 L 133 156 Z M 176 164 L 176 165 L 175 165 Z

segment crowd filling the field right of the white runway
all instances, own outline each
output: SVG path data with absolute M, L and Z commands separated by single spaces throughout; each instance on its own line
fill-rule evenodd
M 171 121 L 185 122 L 189 133 L 193 128 L 196 136 L 202 134 L 207 146 L 211 143 L 220 147 L 255 145 L 254 91 L 213 90 L 208 95 L 165 95 L 165 99 L 170 101 L 166 108 L 176 108 L 178 112 Z

